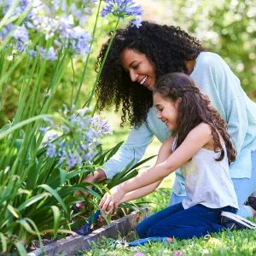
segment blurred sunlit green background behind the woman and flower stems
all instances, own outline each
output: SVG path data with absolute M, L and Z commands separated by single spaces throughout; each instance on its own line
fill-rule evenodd
M 239 79 L 241 86 L 253 101 L 256 101 L 256 2 L 251 0 L 135 0 L 143 6 L 143 20 L 151 20 L 160 24 L 180 26 L 190 34 L 199 38 L 205 47 L 212 52 L 221 55 Z M 92 31 L 94 24 L 92 15 L 86 29 Z M 77 108 L 81 108 L 89 98 L 90 90 L 96 79 L 94 66 L 96 56 L 102 44 L 108 38 L 108 32 L 113 29 L 114 20 L 101 18 L 96 30 L 96 40 L 90 55 L 89 70 L 85 74 L 82 86 L 82 94 L 79 97 Z M 123 26 L 122 22 L 120 25 Z M 84 59 L 73 59 L 74 72 L 70 67 L 65 73 L 59 90 L 52 105 L 52 111 L 56 111 L 63 103 L 70 104 L 72 84 L 79 87 L 79 79 L 83 73 Z M 49 73 L 53 69 L 55 62 L 49 64 Z M 25 63 L 20 63 L 20 74 L 15 74 L 15 78 L 10 80 L 7 89 L 7 96 L 3 102 L 0 113 L 0 127 L 15 114 L 18 102 L 22 73 L 24 73 Z M 44 87 L 49 81 L 44 80 Z M 42 90 L 42 96 L 45 91 Z M 96 99 L 94 98 L 94 104 Z M 92 104 L 93 105 L 93 104 Z M 126 139 L 129 132 L 129 124 L 125 128 L 120 128 L 120 114 L 113 113 L 113 109 L 101 113 L 113 125 L 113 136 L 105 137 L 102 140 L 103 148 L 108 149 L 114 144 Z M 160 144 L 153 141 L 147 150 L 148 155 L 157 154 Z M 152 160 L 153 162 L 154 160 Z

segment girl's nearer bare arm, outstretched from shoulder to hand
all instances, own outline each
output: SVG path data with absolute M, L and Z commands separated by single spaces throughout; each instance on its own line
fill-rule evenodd
M 212 139 L 211 127 L 201 123 L 189 132 L 183 143 L 162 163 L 141 172 L 125 183 L 111 189 L 112 195 L 104 195 L 100 206 L 108 212 L 119 205 L 119 201 L 126 193 L 156 183 L 174 172 L 177 167 L 182 166 L 193 155 Z M 109 205 L 109 206 L 108 206 Z

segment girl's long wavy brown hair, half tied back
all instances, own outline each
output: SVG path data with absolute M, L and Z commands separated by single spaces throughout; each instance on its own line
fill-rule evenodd
M 218 111 L 212 107 L 208 98 L 196 87 L 193 79 L 184 73 L 168 73 L 156 81 L 153 93 L 160 94 L 166 100 L 176 102 L 181 97 L 177 107 L 178 148 L 195 126 L 203 123 L 211 126 L 214 140 L 214 151 L 221 152 L 218 161 L 224 159 L 224 148 L 219 135 L 224 139 L 229 158 L 229 164 L 236 160 L 236 149 L 227 132 L 228 125 L 221 119 Z

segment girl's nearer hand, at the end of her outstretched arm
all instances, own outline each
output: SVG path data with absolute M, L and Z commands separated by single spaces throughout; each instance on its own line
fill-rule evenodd
M 102 210 L 106 213 L 106 215 L 116 209 L 121 199 L 125 196 L 125 191 L 121 189 L 120 185 L 117 185 L 113 187 L 113 189 L 110 189 L 110 192 L 112 195 L 106 193 L 100 203 L 100 207 L 102 207 Z

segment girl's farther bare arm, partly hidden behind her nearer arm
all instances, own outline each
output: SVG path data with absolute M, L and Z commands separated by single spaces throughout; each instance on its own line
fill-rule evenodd
M 156 163 L 154 166 L 164 162 L 170 154 L 172 154 L 172 143 L 173 143 L 174 137 L 169 137 L 165 143 L 163 143 L 160 147 L 160 151 L 156 160 Z M 156 183 L 152 183 L 146 187 L 136 189 L 134 191 L 131 191 L 123 197 L 123 199 L 119 203 L 123 203 L 125 201 L 131 201 L 135 200 L 137 198 L 141 198 L 144 195 L 148 195 L 151 192 L 153 192 L 161 183 L 162 179 L 160 181 L 157 181 Z

